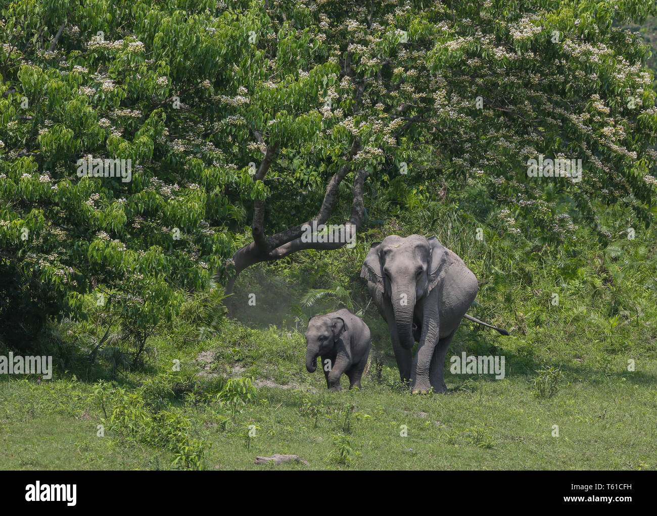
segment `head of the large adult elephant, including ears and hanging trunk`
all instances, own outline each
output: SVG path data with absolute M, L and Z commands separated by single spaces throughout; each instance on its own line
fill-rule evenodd
M 447 249 L 435 236 L 397 235 L 375 242 L 367 253 L 361 276 L 376 285 L 390 299 L 394 311 L 399 343 L 411 349 L 413 310 L 417 300 L 428 295 L 438 284 Z M 388 324 L 392 322 L 388 321 Z

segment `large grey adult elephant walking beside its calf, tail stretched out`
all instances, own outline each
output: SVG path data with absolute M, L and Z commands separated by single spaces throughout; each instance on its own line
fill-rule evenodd
M 477 278 L 435 236 L 391 235 L 375 242 L 361 276 L 390 328 L 399 376 L 411 381 L 414 394 L 426 394 L 432 387 L 438 393 L 447 390 L 445 354 L 463 317 L 509 335 L 466 314 L 477 295 Z M 414 362 L 411 348 L 416 341 Z

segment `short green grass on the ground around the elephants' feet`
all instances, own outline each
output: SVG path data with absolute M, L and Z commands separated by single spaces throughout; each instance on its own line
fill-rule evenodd
M 641 331 L 635 333 L 642 337 Z M 137 398 L 142 408 L 152 400 L 139 387 L 148 377 L 160 381 L 151 393 L 172 387 L 159 408 L 187 418 L 191 439 L 209 445 L 202 454 L 204 469 L 657 469 L 654 349 L 635 358 L 636 370 L 629 372 L 632 353 L 608 355 L 604 343 L 547 337 L 539 329 L 505 339 L 463 325 L 453 352 L 467 347 L 468 353 L 486 353 L 485 345 L 496 346 L 495 354 L 507 357 L 505 379 L 453 376 L 447 370 L 449 395 L 412 396 L 396 385 L 396 370 L 384 353 L 388 365 L 380 379 L 366 377 L 362 391 L 329 393 L 321 373 L 305 371 L 302 333 L 227 322 L 221 334 L 184 346 L 152 339 L 158 358 L 149 365 L 156 372 L 124 372 L 116 385 L 142 393 Z M 652 346 L 641 344 L 632 347 Z M 214 361 L 196 360 L 202 351 L 212 351 Z M 170 371 L 174 358 L 180 360 L 180 372 Z M 547 399 L 536 395 L 532 382 L 545 364 L 564 373 Z M 253 373 L 292 388 L 261 387 L 231 411 L 215 393 L 223 374 L 236 365 L 246 368 L 242 375 Z M 97 437 L 97 425 L 108 425 L 94 388 L 70 372 L 41 384 L 5 377 L 0 383 L 0 468 L 178 467 L 171 464 L 166 445 L 145 436 L 106 429 L 105 437 Z M 209 394 L 192 399 L 193 391 Z M 106 410 L 111 414 L 116 400 L 110 398 Z M 250 449 L 248 425 L 257 427 Z M 407 437 L 401 437 L 404 428 Z M 346 463 L 332 458 L 338 435 L 346 437 Z M 256 456 L 276 453 L 296 454 L 309 465 L 253 464 Z

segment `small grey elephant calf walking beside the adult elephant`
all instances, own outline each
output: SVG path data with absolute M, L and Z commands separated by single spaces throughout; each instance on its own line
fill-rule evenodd
M 328 389 L 342 389 L 342 373 L 349 377 L 350 389 L 360 387 L 371 343 L 367 324 L 347 309 L 316 315 L 306 330 L 306 369 L 314 373 L 321 356 Z

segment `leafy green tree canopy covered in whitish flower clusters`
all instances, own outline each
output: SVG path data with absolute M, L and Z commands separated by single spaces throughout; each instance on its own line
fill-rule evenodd
M 306 242 L 304 223 L 342 194 L 360 228 L 366 181 L 390 175 L 480 184 L 558 236 L 574 225 L 546 181 L 593 227 L 599 201 L 651 220 L 648 50 L 614 22 L 652 0 L 151 4 L 0 7 L 0 267 L 53 314 L 99 286 L 155 324 L 212 272 L 230 289 L 254 263 L 344 245 Z M 528 177 L 543 156 L 581 160 L 581 181 Z

